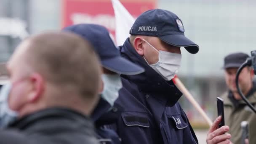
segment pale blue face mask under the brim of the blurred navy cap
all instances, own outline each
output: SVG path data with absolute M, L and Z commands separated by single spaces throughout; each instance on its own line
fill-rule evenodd
M 101 97 L 105 99 L 111 106 L 113 106 L 115 100 L 118 98 L 118 91 L 122 88 L 121 77 L 118 74 L 103 74 L 102 80 L 104 83 L 104 88 L 103 92 L 101 93 Z

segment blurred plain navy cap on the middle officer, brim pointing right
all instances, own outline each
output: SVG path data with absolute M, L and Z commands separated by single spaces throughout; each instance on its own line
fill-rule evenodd
M 74 32 L 94 47 L 101 59 L 101 64 L 112 72 L 123 75 L 136 75 L 144 69 L 120 56 L 120 52 L 111 39 L 108 30 L 97 24 L 76 24 L 65 27 L 64 31 Z

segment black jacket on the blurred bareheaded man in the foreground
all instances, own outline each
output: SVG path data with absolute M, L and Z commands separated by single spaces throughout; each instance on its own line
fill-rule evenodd
M 0 131 L 0 144 L 98 144 L 93 123 L 71 109 L 50 108 Z

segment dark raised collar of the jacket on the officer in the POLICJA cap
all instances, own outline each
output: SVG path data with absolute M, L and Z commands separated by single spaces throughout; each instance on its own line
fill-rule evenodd
M 120 47 L 120 52 L 123 57 L 145 69 L 145 72 L 139 75 L 121 75 L 122 77 L 136 83 L 140 91 L 157 94 L 164 99 L 170 98 L 173 104 L 179 100 L 182 93 L 176 85 L 174 85 L 173 81 L 166 81 L 155 72 L 155 70 L 135 51 L 129 38 L 126 39 L 123 47 Z M 170 96 L 173 93 L 175 93 L 175 96 Z

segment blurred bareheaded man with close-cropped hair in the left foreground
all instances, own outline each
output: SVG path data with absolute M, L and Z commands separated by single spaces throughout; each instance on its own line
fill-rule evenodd
M 88 115 L 99 100 L 99 59 L 78 35 L 24 40 L 8 61 L 0 93 L 0 144 L 97 144 Z

